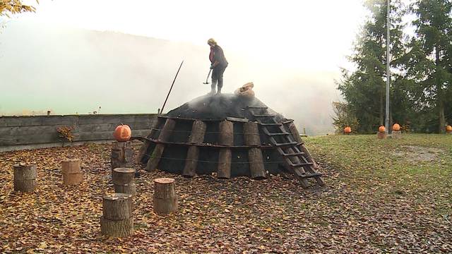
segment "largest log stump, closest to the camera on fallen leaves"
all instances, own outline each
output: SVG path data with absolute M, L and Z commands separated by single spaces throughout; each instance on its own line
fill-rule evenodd
M 113 237 L 133 234 L 132 195 L 114 193 L 103 197 L 100 231 L 103 235 Z

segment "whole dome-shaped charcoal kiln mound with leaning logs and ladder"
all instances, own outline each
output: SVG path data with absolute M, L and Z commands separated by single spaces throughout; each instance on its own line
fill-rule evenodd
M 234 94 L 204 95 L 157 116 L 137 160 L 148 171 L 186 177 L 263 179 L 287 171 L 304 188 L 309 179 L 323 185 L 293 120 L 256 97 Z

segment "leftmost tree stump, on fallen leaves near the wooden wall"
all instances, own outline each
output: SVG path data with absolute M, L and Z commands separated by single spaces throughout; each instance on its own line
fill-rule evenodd
M 36 188 L 36 165 L 16 164 L 14 169 L 14 191 L 33 192 Z

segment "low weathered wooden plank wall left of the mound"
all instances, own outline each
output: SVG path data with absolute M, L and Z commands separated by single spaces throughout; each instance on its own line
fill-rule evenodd
M 73 128 L 74 143 L 113 140 L 119 124 L 131 127 L 133 137 L 145 137 L 156 114 L 93 114 L 51 116 L 0 116 L 0 152 L 61 145 L 57 128 Z M 67 143 L 67 142 L 66 142 Z

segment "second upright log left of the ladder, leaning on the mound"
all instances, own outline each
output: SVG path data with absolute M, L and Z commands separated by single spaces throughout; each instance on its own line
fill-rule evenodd
M 234 123 L 232 121 L 220 122 L 219 144 L 225 147 L 220 148 L 217 177 L 219 179 L 230 179 L 232 151 L 228 146 L 234 145 Z

